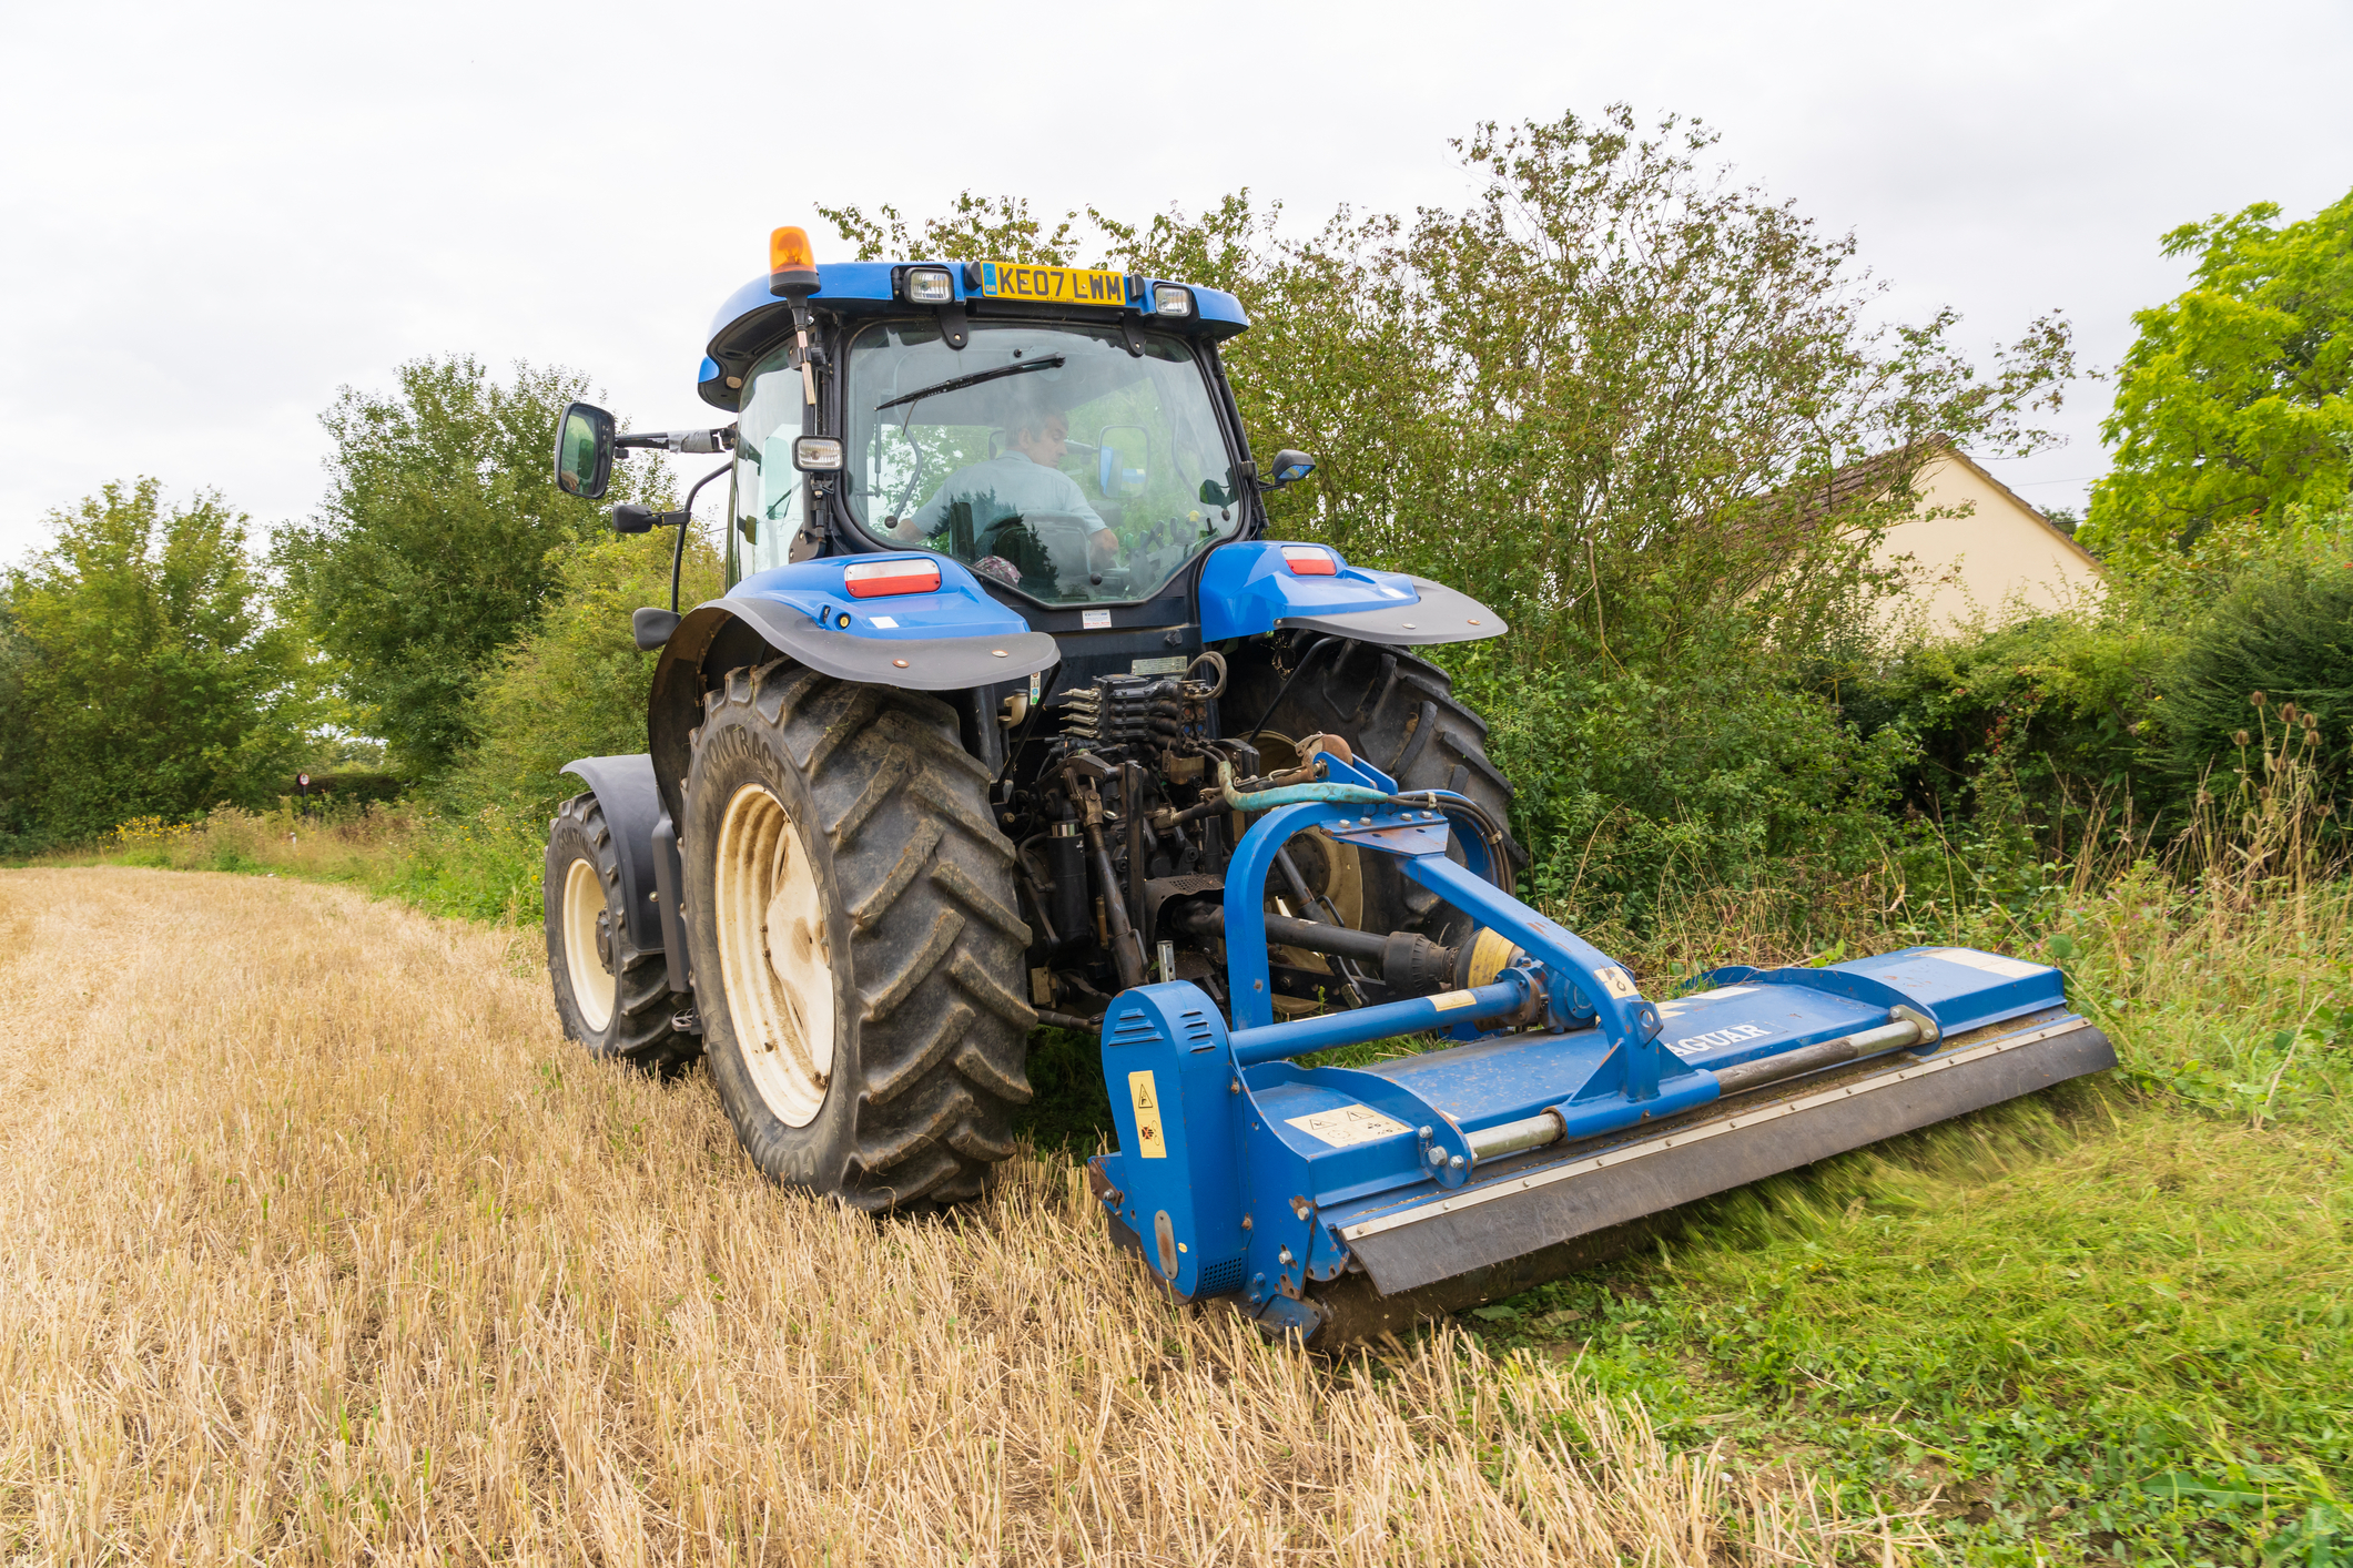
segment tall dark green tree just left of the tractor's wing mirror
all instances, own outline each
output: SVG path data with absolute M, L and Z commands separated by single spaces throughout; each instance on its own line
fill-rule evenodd
M 605 508 L 548 477 L 555 418 L 584 390 L 527 364 L 501 386 L 452 355 L 402 364 L 393 395 L 344 388 L 320 416 L 327 501 L 280 531 L 275 559 L 407 776 L 440 776 L 473 741 L 482 670 L 539 618 L 560 552 L 605 529 Z M 649 468 L 619 468 L 614 496 L 652 496 Z

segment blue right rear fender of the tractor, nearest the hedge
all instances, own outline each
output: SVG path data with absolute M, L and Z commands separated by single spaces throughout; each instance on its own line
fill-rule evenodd
M 1506 630 L 1501 616 L 1445 583 L 1351 567 L 1332 545 L 1252 538 L 1209 552 L 1200 571 L 1202 642 L 1299 628 L 1388 644 L 1475 642 Z

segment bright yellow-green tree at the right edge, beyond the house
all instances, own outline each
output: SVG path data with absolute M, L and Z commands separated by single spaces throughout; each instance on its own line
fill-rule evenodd
M 2153 555 L 2231 522 L 2327 512 L 2353 477 L 2353 195 L 2301 223 L 2257 202 L 2184 223 L 2191 287 L 2132 320 L 2085 543 Z

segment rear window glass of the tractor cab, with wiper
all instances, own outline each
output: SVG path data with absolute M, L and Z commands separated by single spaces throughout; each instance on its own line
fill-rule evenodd
M 1113 327 L 878 322 L 849 346 L 845 491 L 880 543 L 939 550 L 1047 604 L 1139 599 L 1242 508 L 1179 339 Z

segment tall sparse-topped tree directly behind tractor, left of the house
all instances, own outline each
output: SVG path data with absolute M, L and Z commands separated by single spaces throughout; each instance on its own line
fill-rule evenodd
M 1233 292 L 1252 329 L 1221 355 L 1252 449 L 1318 458 L 1268 496 L 1275 529 L 1506 616 L 1506 642 L 1435 656 L 1494 722 L 1532 877 L 1642 922 L 1673 877 L 1868 863 L 1906 738 L 1857 743 L 1807 672 L 1868 635 L 1892 590 L 1871 545 L 1939 440 L 2033 449 L 2071 371 L 2054 317 L 1991 362 L 1951 313 L 1880 324 L 1854 242 L 1727 179 L 1713 146 L 1626 108 L 1485 125 L 1457 143 L 1461 209 L 1304 233 L 1247 190 L 1139 221 L 1009 197 L 828 216 L 866 259 Z

